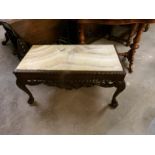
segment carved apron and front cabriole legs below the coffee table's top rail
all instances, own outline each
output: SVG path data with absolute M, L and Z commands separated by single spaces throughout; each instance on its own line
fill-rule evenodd
M 29 95 L 28 103 L 32 104 L 34 102 L 34 97 L 32 93 L 28 90 L 26 85 L 38 85 L 38 84 L 46 84 L 48 86 L 55 86 L 59 88 L 65 88 L 65 89 L 78 89 L 81 87 L 92 87 L 92 86 L 101 86 L 101 87 L 116 87 L 116 91 L 112 97 L 112 101 L 110 104 L 111 108 L 116 108 L 118 106 L 118 102 L 116 100 L 116 97 L 120 92 L 122 92 L 125 89 L 125 81 L 112 81 L 112 80 L 98 80 L 98 79 L 92 79 L 92 80 L 21 80 L 17 78 L 16 84 L 19 88 L 21 88 L 25 93 Z

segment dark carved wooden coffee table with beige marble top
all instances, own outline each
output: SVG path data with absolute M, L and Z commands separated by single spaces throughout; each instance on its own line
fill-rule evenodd
M 14 71 L 16 84 L 34 97 L 26 85 L 44 83 L 59 88 L 116 87 L 110 107 L 125 89 L 125 71 L 113 45 L 33 45 Z

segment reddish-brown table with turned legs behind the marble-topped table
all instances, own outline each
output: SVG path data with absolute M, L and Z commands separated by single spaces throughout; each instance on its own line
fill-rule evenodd
M 139 48 L 139 42 L 141 34 L 150 23 L 155 23 L 155 19 L 79 19 L 79 40 L 81 44 L 85 44 L 85 34 L 84 25 L 85 24 L 103 24 L 103 25 L 126 25 L 133 24 L 133 30 L 137 27 L 136 35 L 130 45 L 130 50 L 128 52 L 120 53 L 120 55 L 126 57 L 129 61 L 129 72 L 132 72 L 132 65 L 134 61 L 134 55 L 136 49 Z M 133 31 L 134 32 L 134 31 Z M 133 32 L 130 35 L 133 35 Z M 129 36 L 130 37 L 130 36 Z

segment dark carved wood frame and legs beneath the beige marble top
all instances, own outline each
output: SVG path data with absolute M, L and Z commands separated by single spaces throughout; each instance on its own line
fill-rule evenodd
M 34 97 L 26 85 L 46 84 L 65 89 L 78 89 L 81 87 L 116 87 L 110 107 L 116 108 L 116 97 L 125 89 L 125 72 L 88 72 L 88 71 L 20 71 L 15 70 L 16 84 L 29 95 L 28 103 L 33 104 Z

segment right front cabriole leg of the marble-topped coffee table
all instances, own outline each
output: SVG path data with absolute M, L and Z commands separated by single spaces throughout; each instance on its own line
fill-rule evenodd
M 109 106 L 113 109 L 115 109 L 118 106 L 118 102 L 116 100 L 116 97 L 125 89 L 125 81 L 118 81 L 115 82 L 114 86 L 117 88 L 113 97 L 112 97 L 112 101 L 111 104 L 109 104 Z

